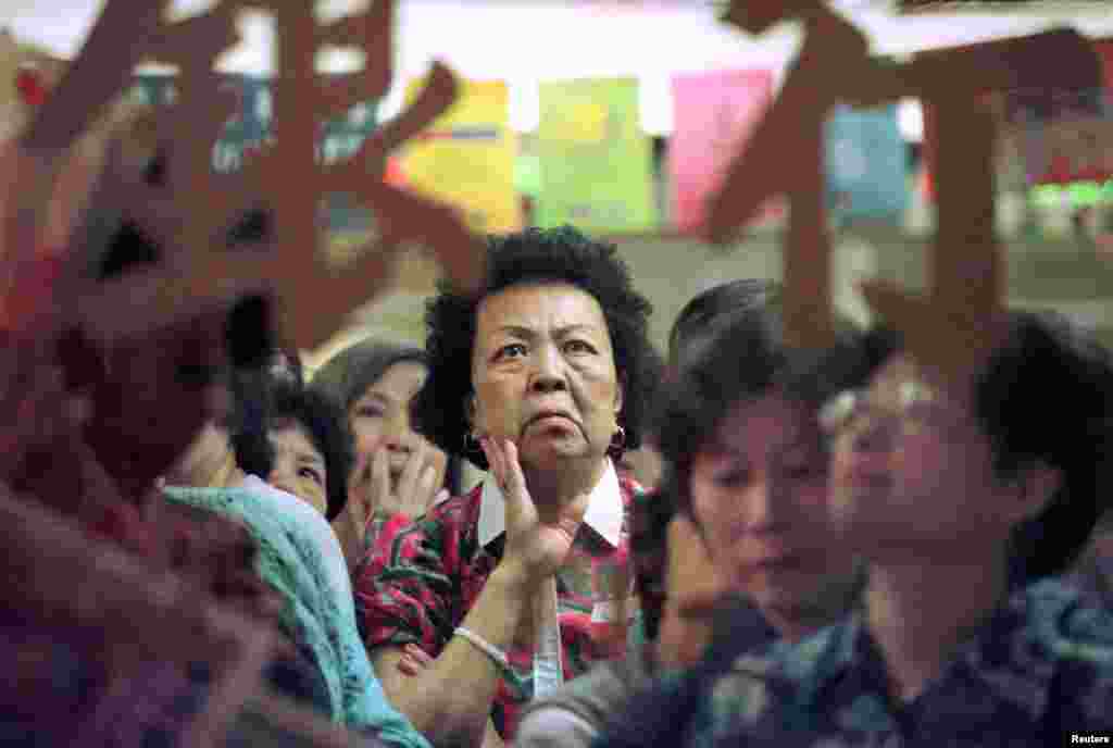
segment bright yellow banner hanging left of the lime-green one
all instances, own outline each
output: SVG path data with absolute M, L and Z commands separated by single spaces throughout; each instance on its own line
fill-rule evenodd
M 423 85 L 412 81 L 406 100 Z M 506 83 L 469 80 L 456 104 L 406 146 L 402 169 L 415 190 L 463 210 L 473 230 L 503 234 L 522 223 L 515 154 Z

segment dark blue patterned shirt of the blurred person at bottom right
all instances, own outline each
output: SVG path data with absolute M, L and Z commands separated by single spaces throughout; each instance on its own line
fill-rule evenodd
M 666 682 L 662 688 L 674 687 Z M 688 746 L 1036 748 L 1113 737 L 1113 612 L 1058 581 L 1014 594 L 917 698 L 895 703 L 860 613 L 742 656 Z M 1077 736 L 1075 740 L 1072 736 Z

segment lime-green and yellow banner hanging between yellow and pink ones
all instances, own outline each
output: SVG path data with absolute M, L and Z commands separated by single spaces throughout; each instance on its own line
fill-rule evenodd
M 640 126 L 638 80 L 542 82 L 539 101 L 536 225 L 656 228 L 653 147 Z

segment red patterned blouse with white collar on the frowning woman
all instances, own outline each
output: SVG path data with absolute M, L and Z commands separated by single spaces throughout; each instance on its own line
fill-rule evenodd
M 608 636 L 615 623 L 612 574 L 630 563 L 630 509 L 641 495 L 637 483 L 609 468 L 556 574 L 564 680 L 624 653 L 624 644 Z M 368 651 L 416 643 L 432 657 L 441 653 L 502 558 L 503 501 L 485 480 L 380 539 L 354 584 Z M 533 698 L 532 648 L 515 646 L 508 656 L 512 672 L 501 678 L 491 715 L 504 739 L 513 737 L 521 709 Z

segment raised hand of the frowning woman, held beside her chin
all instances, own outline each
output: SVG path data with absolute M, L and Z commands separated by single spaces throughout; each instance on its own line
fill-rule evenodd
M 506 499 L 506 552 L 502 563 L 516 565 L 530 583 L 541 582 L 556 573 L 564 563 L 579 530 L 579 522 L 542 522 L 525 485 L 525 475 L 518 461 L 518 447 L 514 443 L 505 440 L 500 445 L 491 437 L 483 437 L 480 444 Z

